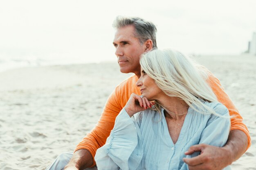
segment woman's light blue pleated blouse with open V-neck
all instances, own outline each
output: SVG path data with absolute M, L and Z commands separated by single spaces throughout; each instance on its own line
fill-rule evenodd
M 229 116 L 227 108 L 218 102 L 205 102 L 222 116 Z M 193 105 L 195 107 L 195 105 Z M 195 144 L 224 146 L 230 129 L 230 118 L 201 114 L 191 107 L 176 142 L 170 137 L 167 123 L 153 110 L 147 109 L 130 118 L 122 109 L 115 120 L 106 144 L 95 155 L 98 170 L 188 170 L 184 152 Z M 225 170 L 230 169 L 226 167 Z

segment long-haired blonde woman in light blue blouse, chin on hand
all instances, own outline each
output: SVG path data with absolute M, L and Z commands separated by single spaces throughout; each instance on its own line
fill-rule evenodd
M 184 155 L 190 146 L 225 145 L 229 112 L 195 62 L 175 50 L 153 50 L 140 65 L 142 95 L 130 96 L 97 150 L 99 170 L 187 170 L 182 159 L 200 154 Z

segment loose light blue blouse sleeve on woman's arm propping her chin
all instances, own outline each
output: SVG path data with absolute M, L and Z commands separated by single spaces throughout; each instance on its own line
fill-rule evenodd
M 137 135 L 136 124 L 122 109 L 106 144 L 96 152 L 95 161 L 99 170 L 133 170 L 139 166 L 143 147 Z

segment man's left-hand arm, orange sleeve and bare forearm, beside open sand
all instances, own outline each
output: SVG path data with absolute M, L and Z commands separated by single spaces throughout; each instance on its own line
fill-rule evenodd
M 97 125 L 76 146 L 74 155 L 65 170 L 79 170 L 95 166 L 94 156 L 96 151 L 106 143 L 106 139 L 114 127 L 117 115 L 126 105 L 130 94 L 140 93 L 139 89 L 135 88 L 136 81 L 137 77 L 131 76 L 118 85 L 115 91 L 112 92 L 105 104 Z

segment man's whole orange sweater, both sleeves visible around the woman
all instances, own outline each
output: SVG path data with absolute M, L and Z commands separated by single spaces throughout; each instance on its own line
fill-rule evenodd
M 207 72 L 209 72 L 209 70 L 207 70 Z M 126 105 L 130 95 L 132 93 L 141 95 L 140 89 L 135 85 L 137 80 L 137 76 L 130 76 L 130 78 L 127 78 L 115 88 L 114 92 L 112 92 L 105 104 L 97 125 L 83 138 L 82 142 L 76 146 L 75 151 L 79 149 L 87 149 L 94 158 L 96 150 L 106 143 L 107 137 L 110 135 L 110 131 L 114 127 L 115 119 L 121 109 L 123 109 L 123 107 Z M 247 135 L 248 149 L 251 145 L 251 138 L 249 136 L 247 127 L 242 122 L 243 118 L 238 113 L 238 110 L 234 106 L 229 96 L 225 93 L 224 88 L 221 86 L 218 78 L 213 76 L 211 72 L 209 72 L 208 83 L 213 89 L 213 92 L 216 94 L 219 102 L 229 109 L 230 115 L 234 116 L 231 118 L 231 130 L 238 129 L 245 132 Z M 94 163 L 92 166 L 95 165 L 95 161 L 93 162 Z

